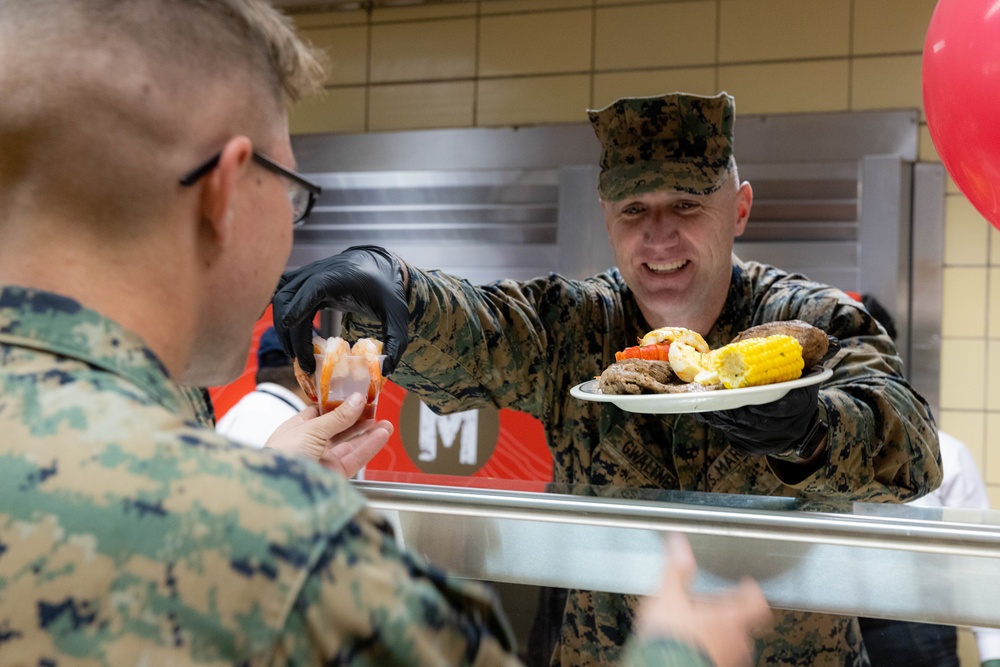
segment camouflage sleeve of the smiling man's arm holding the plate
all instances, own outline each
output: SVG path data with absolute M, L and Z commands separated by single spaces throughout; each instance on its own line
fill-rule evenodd
M 761 321 L 802 319 L 836 336 L 841 349 L 826 362 L 833 377 L 820 390 L 829 424 L 825 464 L 803 480 L 779 479 L 805 496 L 912 500 L 941 483 L 937 425 L 930 407 L 903 376 L 892 339 L 862 307 L 838 290 L 799 289 Z M 778 290 L 780 294 L 780 290 Z M 765 307 L 765 311 L 767 307 Z

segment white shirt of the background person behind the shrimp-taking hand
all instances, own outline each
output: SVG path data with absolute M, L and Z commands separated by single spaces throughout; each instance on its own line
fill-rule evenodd
M 260 448 L 278 426 L 305 409 L 294 392 L 262 382 L 222 416 L 215 430 L 229 440 Z

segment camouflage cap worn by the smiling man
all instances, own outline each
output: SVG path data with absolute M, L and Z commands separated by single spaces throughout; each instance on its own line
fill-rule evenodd
M 623 97 L 587 115 L 601 142 L 605 201 L 664 189 L 709 194 L 729 171 L 734 102 L 726 93 Z

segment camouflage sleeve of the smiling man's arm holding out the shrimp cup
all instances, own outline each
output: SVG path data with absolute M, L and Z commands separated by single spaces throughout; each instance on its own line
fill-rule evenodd
M 583 284 L 553 274 L 474 286 L 407 268 L 410 341 L 392 379 L 441 412 L 493 405 L 542 419 L 557 365 L 571 352 L 561 336 L 590 326 L 584 321 L 596 312 L 584 307 Z M 352 338 L 379 334 L 356 316 L 345 319 L 345 330 Z

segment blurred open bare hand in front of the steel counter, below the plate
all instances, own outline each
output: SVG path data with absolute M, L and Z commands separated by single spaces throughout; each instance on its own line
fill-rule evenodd
M 752 636 L 770 626 L 771 613 L 760 587 L 750 579 L 732 591 L 693 596 L 688 590 L 697 567 L 683 535 L 667 539 L 667 567 L 660 590 L 636 614 L 643 638 L 674 637 L 697 646 L 717 667 L 749 665 Z

